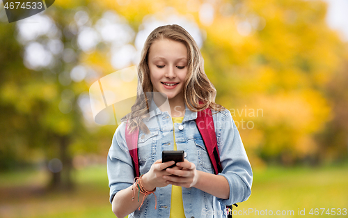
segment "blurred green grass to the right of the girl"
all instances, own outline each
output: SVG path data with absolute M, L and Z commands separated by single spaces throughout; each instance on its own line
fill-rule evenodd
M 299 216 L 299 210 L 308 212 L 313 208 L 347 208 L 348 210 L 348 166 L 310 167 L 271 167 L 255 170 L 251 197 L 239 203 L 235 210 L 293 210 Z M 322 210 L 320 210 L 321 214 Z M 244 214 L 246 215 L 246 214 Z M 315 215 L 314 215 L 315 216 Z M 243 217 L 243 216 L 238 216 Z M 260 217 L 255 212 L 248 217 Z M 320 215 L 320 217 L 332 217 Z M 347 214 L 348 217 L 348 214 Z

